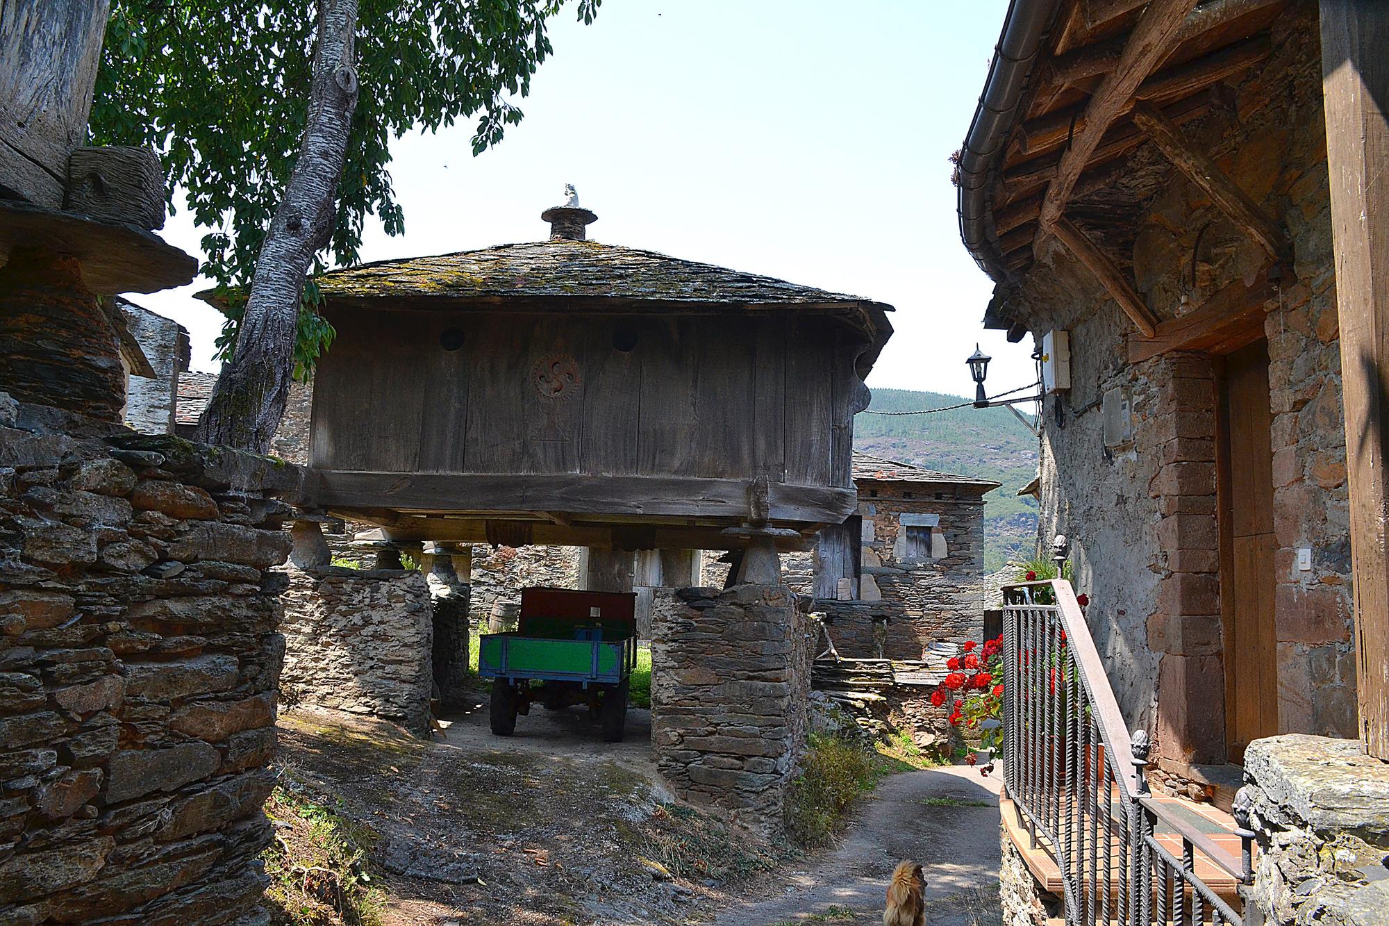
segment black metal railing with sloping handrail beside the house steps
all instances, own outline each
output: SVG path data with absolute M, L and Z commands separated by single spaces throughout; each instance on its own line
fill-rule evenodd
M 1004 788 L 1061 869 L 1067 926 L 1238 926 L 1240 913 L 1196 866 L 1204 859 L 1249 884 L 1253 833 L 1236 830 L 1235 858 L 1151 798 L 1147 734 L 1129 736 L 1070 583 L 1003 595 Z

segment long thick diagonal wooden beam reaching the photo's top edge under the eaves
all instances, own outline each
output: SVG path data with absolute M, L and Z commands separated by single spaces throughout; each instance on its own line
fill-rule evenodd
M 1196 6 L 1196 0 L 1150 0 L 1129 33 L 1120 63 L 1104 75 L 1099 89 L 1085 107 L 1085 128 L 1075 133 L 1061 156 L 1056 179 L 1042 199 L 1038 217 L 1038 243 L 1051 232 L 1071 200 L 1071 189 L 1081 178 L 1095 149 L 1114 117 L 1133 99 L 1133 92 L 1153 72 L 1153 68 L 1172 50 L 1172 38 L 1182 21 Z M 1142 303 L 1140 303 L 1142 304 Z

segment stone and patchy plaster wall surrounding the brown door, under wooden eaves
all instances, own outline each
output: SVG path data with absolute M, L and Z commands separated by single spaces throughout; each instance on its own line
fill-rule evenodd
M 1349 499 L 1317 4 L 1281 15 L 1268 60 L 1222 88 L 1210 114 L 1182 131 L 1293 242 L 1296 281 L 1264 306 L 1276 541 L 1270 672 L 1278 676 L 1279 731 L 1353 736 Z M 1131 221 L 1110 221 L 1104 243 L 1132 256 L 1138 291 L 1160 317 L 1264 273 L 1267 254 L 1158 154 L 1139 149 L 1128 178 L 1142 207 Z M 1082 224 L 1088 207 L 1079 200 L 1072 210 Z M 1071 542 L 1076 590 L 1090 598 L 1086 620 L 1124 716 L 1157 730 L 1158 759 L 1176 772 L 1224 762 L 1218 360 L 1129 363 L 1132 324 L 1058 247 L 1039 254 L 1008 309 L 1039 336 L 1071 335 L 1072 389 L 1049 398 L 1043 416 L 1040 533 Z M 1129 393 L 1131 434 L 1106 441 L 1099 402 L 1115 391 Z M 1311 569 L 1296 564 L 1301 546 L 1311 549 Z

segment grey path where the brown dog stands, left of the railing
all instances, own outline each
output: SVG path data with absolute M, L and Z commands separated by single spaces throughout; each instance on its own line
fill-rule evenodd
M 843 841 L 775 895 L 724 909 L 714 926 L 881 922 L 892 869 L 925 866 L 926 920 L 972 926 L 997 918 L 999 779 L 951 766 L 885 779 L 850 822 Z M 990 912 L 992 911 L 992 912 Z

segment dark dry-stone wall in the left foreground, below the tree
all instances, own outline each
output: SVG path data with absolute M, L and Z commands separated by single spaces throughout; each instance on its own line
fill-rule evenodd
M 0 407 L 0 922 L 264 922 L 297 470 Z

